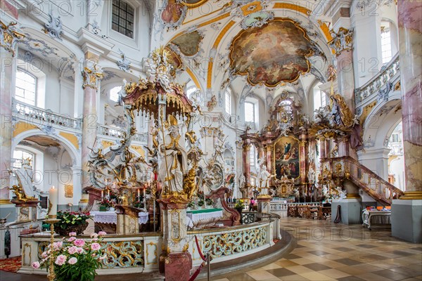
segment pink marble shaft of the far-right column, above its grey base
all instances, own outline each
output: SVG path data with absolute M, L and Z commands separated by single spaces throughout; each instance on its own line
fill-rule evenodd
M 397 1 L 406 192 L 422 199 L 422 2 Z

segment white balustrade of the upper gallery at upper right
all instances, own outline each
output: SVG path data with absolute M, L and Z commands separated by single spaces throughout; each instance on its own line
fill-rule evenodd
M 381 68 L 371 80 L 364 86 L 354 89 L 355 103 L 357 107 L 369 103 L 373 99 L 388 99 L 388 93 L 394 90 L 394 86 L 399 81 L 400 61 L 399 55 Z

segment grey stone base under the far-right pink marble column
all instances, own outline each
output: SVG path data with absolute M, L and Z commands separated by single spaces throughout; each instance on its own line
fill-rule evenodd
M 414 243 L 422 243 L 422 200 L 392 200 L 391 234 Z

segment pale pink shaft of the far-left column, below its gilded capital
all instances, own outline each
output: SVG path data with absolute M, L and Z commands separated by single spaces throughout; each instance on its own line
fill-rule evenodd
M 12 85 L 15 58 L 10 51 L 0 48 L 1 71 L 0 71 L 0 202 L 8 202 L 12 156 Z

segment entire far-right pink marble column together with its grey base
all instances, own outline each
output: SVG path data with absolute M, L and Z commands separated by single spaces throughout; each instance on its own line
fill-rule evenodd
M 422 242 L 422 2 L 397 1 L 405 192 L 392 201 L 391 233 Z

